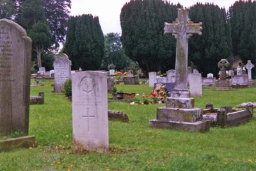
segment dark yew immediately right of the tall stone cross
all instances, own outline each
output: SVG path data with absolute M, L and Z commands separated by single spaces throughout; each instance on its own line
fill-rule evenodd
M 230 24 L 225 9 L 209 3 L 191 6 L 189 18 L 202 22 L 202 35 L 193 35 L 189 40 L 189 61 L 206 76 L 218 75 L 217 63 L 232 54 Z

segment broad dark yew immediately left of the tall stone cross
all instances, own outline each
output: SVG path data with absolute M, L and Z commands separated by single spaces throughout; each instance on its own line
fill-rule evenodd
M 177 18 L 177 8 L 162 0 L 131 0 L 120 14 L 125 54 L 147 73 L 175 66 L 175 38 L 163 34 L 164 22 Z

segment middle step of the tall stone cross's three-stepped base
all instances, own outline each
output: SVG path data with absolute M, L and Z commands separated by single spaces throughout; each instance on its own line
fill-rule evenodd
M 201 108 L 157 108 L 157 120 L 195 123 L 201 119 Z

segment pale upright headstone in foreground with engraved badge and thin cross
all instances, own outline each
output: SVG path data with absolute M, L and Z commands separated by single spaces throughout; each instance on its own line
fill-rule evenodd
M 107 73 L 80 71 L 72 75 L 75 151 L 108 151 L 107 86 Z

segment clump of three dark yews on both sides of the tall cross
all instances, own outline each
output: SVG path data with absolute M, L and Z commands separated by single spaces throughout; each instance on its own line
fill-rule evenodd
M 237 1 L 226 13 L 225 9 L 211 3 L 191 6 L 189 18 L 202 22 L 202 36 L 189 40 L 189 63 L 193 62 L 205 76 L 218 75 L 220 59 L 239 56 L 244 63 L 255 63 L 256 8 L 255 1 Z M 173 22 L 181 5 L 161 0 L 132 0 L 120 14 L 122 43 L 125 54 L 137 61 L 146 71 L 173 69 L 176 40 L 163 35 L 164 22 Z

